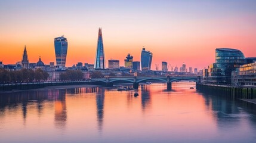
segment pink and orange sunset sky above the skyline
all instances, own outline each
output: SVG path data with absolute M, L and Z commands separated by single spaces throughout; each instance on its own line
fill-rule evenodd
M 203 69 L 215 62 L 215 48 L 235 48 L 256 57 L 256 1 L 79 1 L 0 0 L 0 61 L 30 63 L 41 56 L 55 63 L 54 38 L 68 41 L 66 66 L 94 64 L 98 28 L 106 61 L 127 54 L 140 61 L 153 53 L 152 70 L 162 61 Z M 107 64 L 107 62 L 106 62 Z

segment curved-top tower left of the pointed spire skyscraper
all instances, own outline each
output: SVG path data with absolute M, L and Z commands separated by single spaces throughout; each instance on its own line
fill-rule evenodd
M 54 38 L 54 47 L 56 65 L 60 67 L 65 67 L 67 57 L 67 38 L 64 38 L 64 36 Z

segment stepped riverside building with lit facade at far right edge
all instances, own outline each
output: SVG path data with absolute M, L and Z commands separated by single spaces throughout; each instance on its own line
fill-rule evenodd
M 232 71 L 232 85 L 256 86 L 256 61 Z

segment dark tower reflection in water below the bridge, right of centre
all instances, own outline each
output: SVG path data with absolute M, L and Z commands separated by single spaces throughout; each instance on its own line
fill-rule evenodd
M 141 108 L 142 111 L 146 111 L 151 105 L 150 98 L 150 85 L 141 85 Z

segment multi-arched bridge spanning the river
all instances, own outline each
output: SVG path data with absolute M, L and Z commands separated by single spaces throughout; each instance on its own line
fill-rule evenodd
M 113 86 L 116 82 L 128 82 L 133 83 L 133 88 L 138 89 L 139 83 L 146 82 L 148 80 L 154 80 L 167 83 L 167 90 L 171 91 L 171 83 L 179 80 L 189 80 L 193 82 L 199 82 L 199 76 L 159 76 L 159 77 L 107 77 L 104 79 L 91 79 L 90 82 L 102 82 L 106 86 Z

